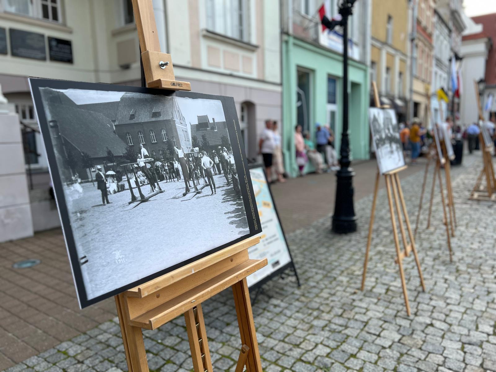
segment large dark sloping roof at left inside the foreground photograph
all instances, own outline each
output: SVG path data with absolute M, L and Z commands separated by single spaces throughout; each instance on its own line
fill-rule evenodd
M 102 114 L 93 111 L 67 107 L 53 103 L 49 106 L 52 118 L 57 120 L 59 130 L 65 140 L 92 158 L 107 156 L 107 148 L 114 155 L 122 155 L 126 144 L 114 132 L 112 122 Z

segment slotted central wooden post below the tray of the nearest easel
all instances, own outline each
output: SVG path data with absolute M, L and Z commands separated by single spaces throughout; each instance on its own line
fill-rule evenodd
M 212 361 L 210 360 L 201 305 L 198 304 L 193 309 L 187 310 L 184 315 L 194 372 L 212 372 Z

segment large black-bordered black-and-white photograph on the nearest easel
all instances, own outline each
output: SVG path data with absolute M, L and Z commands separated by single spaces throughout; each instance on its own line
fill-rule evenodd
M 30 84 L 81 307 L 260 233 L 231 97 Z

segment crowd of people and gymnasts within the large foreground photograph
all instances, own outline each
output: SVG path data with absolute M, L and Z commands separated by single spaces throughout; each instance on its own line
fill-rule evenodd
M 159 182 L 184 182 L 185 194 L 198 192 L 199 187 L 208 185 L 211 195 L 217 193 L 214 176 L 224 176 L 227 186 L 234 186 L 241 196 L 232 149 L 218 146 L 217 149 L 200 150 L 198 147 L 185 152 L 181 146 L 174 147 L 174 159 L 153 159 L 146 148 L 140 144 L 136 162 L 116 166 L 116 171 L 104 173 L 101 166 L 96 167 L 97 189 L 102 194 L 102 204 L 110 204 L 109 194 L 124 191 L 126 184 L 131 188 L 149 185 L 150 193 L 160 190 Z M 111 167 L 110 167 L 111 168 Z

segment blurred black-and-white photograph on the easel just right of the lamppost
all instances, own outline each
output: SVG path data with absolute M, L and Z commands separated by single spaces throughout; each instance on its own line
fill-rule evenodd
M 369 122 L 380 173 L 384 174 L 404 166 L 403 147 L 394 110 L 371 107 Z

